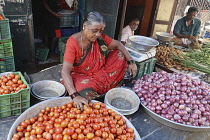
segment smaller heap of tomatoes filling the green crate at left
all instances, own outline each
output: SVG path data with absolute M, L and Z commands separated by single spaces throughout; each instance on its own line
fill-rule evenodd
M 0 77 L 0 95 L 15 93 L 26 87 L 27 85 L 23 84 L 20 75 L 10 73 L 8 76 Z

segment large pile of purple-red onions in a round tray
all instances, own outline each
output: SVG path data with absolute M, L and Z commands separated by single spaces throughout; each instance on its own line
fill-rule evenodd
M 210 86 L 178 73 L 153 72 L 133 87 L 141 102 L 156 114 L 192 126 L 210 126 Z

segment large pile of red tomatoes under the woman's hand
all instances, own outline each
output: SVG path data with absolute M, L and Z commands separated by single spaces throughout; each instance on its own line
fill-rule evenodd
M 73 102 L 46 107 L 38 116 L 26 119 L 16 128 L 11 140 L 133 140 L 134 130 L 125 119 L 101 102 L 84 105 Z

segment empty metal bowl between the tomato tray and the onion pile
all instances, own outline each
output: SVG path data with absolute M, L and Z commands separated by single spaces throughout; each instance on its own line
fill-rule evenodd
M 113 99 L 116 98 L 123 98 L 127 100 L 131 104 L 131 109 L 119 109 L 111 105 Z M 123 115 L 130 115 L 136 112 L 139 109 L 140 100 L 139 97 L 130 89 L 127 88 L 113 88 L 109 90 L 104 98 L 104 103 L 111 108 L 117 110 L 118 112 L 122 113 Z

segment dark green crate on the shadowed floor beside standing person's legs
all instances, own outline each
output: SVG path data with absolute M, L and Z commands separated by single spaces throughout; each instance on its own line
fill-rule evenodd
M 35 48 L 35 57 L 38 60 L 47 60 L 49 49 L 44 44 L 38 44 Z

